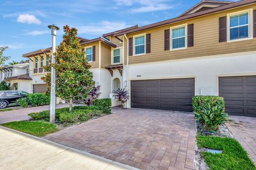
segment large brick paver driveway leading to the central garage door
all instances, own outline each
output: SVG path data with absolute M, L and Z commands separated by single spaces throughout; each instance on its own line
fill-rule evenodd
M 113 108 L 45 139 L 140 169 L 195 169 L 192 113 Z

